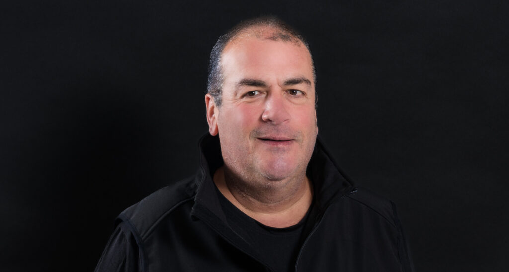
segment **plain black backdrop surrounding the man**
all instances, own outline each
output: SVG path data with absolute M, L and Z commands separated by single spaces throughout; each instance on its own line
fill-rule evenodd
M 0 11 L 0 270 L 93 270 L 116 215 L 190 175 L 210 49 L 261 14 L 309 40 L 320 134 L 398 204 L 416 269 L 508 269 L 507 2 L 14 3 Z

